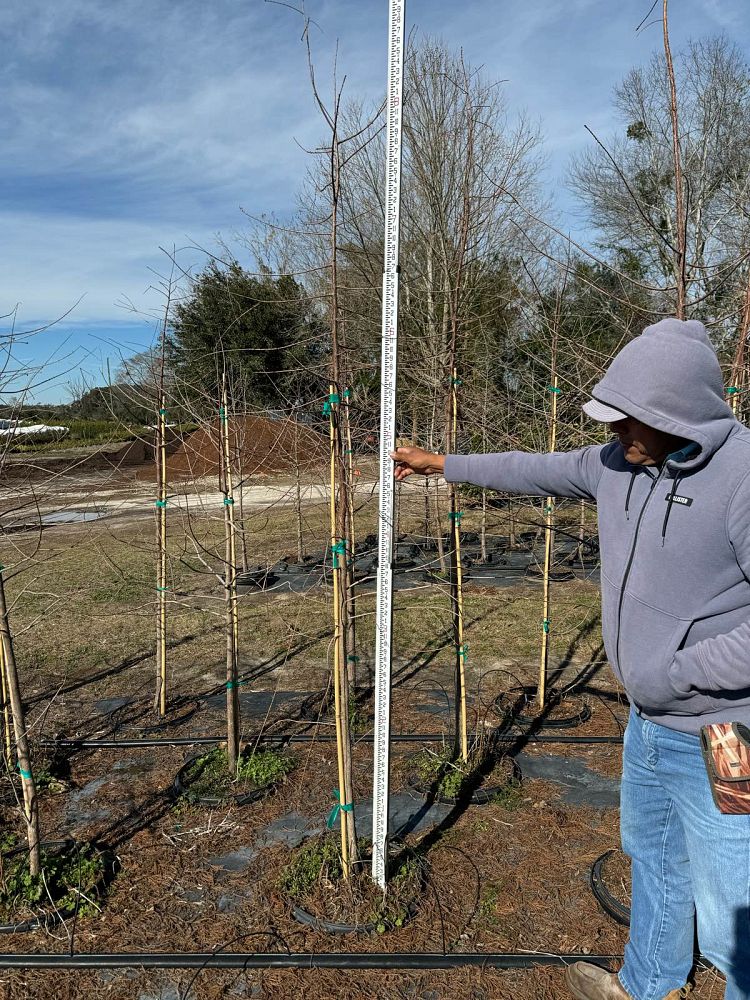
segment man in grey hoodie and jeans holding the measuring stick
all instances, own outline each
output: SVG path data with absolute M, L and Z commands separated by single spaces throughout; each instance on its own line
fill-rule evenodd
M 631 702 L 620 824 L 633 891 L 619 974 L 579 962 L 568 986 L 579 1000 L 685 995 L 697 914 L 725 1000 L 750 1000 L 750 815 L 714 805 L 698 735 L 750 724 L 750 431 L 693 320 L 647 327 L 584 410 L 617 440 L 542 455 L 398 448 L 396 478 L 596 500 L 602 633 Z

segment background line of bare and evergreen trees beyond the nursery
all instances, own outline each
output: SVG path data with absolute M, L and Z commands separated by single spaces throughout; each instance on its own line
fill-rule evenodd
M 523 116 L 511 115 L 498 82 L 442 42 L 410 48 L 403 435 L 440 446 L 457 368 L 464 426 L 479 421 L 487 446 L 540 444 L 554 326 L 562 424 L 575 439 L 580 395 L 629 337 L 674 312 L 681 277 L 687 315 L 709 325 L 727 366 L 738 356 L 750 323 L 750 68 L 725 38 L 691 43 L 676 67 L 682 256 L 663 54 L 626 75 L 614 94 L 616 134 L 592 139 L 571 167 L 570 184 L 596 238 L 589 251 L 550 225 L 541 137 Z M 192 396 L 190 405 L 217 399 L 222 376 L 236 404 L 248 409 L 298 413 L 321 399 L 335 308 L 342 382 L 354 391 L 362 428 L 377 427 L 384 141 L 382 110 L 350 101 L 321 147 L 324 155 L 311 161 L 295 217 L 248 235 L 256 263 L 243 266 L 228 252 L 188 282 L 170 312 L 166 364 L 184 398 Z M 77 405 L 92 415 L 134 413 L 117 386 L 92 390 Z

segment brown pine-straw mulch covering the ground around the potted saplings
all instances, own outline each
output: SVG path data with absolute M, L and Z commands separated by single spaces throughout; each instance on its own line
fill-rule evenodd
M 526 672 L 532 673 L 533 666 Z M 514 675 L 520 675 L 524 683 L 529 679 L 517 665 Z M 603 671 L 587 675 L 585 665 L 569 668 L 565 680 L 575 676 L 581 683 L 579 690 L 573 690 L 571 703 L 577 705 L 585 698 L 592 716 L 570 732 L 616 735 L 625 709 L 614 684 Z M 486 695 L 474 699 L 479 708 L 473 709 L 473 726 L 489 719 L 483 706 L 496 696 L 492 683 Z M 429 688 L 429 682 L 419 678 L 396 688 L 394 731 L 435 732 L 440 727 L 447 731 L 450 712 L 442 717 L 426 712 L 425 690 L 434 690 L 434 683 Z M 303 700 L 301 696 L 300 704 Z M 139 726 L 146 718 L 146 702 L 116 709 L 115 715 L 117 711 Z M 285 718 L 288 714 L 285 709 Z M 94 717 L 92 708 L 92 720 Z M 219 718 L 204 706 L 178 723 L 174 732 L 216 732 Z M 54 728 L 63 728 L 71 721 L 72 716 L 59 718 Z M 102 716 L 102 722 L 98 729 L 106 731 L 108 717 Z M 307 725 L 307 732 L 329 731 Z M 118 734 L 127 735 L 129 728 L 126 724 Z M 619 768 L 619 746 L 535 748 L 522 733 L 521 738 L 526 752 L 554 749 L 555 753 L 576 754 L 602 774 L 615 774 Z M 394 792 L 408 791 L 408 757 L 415 749 L 414 744 L 394 746 Z M 269 823 L 292 814 L 318 817 L 323 824 L 332 805 L 334 746 L 293 744 L 292 751 L 298 767 L 274 795 L 242 808 L 215 810 L 176 805 L 170 796 L 173 776 L 192 752 L 190 748 L 81 750 L 72 754 L 70 791 L 45 796 L 42 802 L 44 836 L 55 839 L 73 833 L 79 839 L 97 839 L 116 852 L 120 873 L 100 916 L 47 931 L 8 935 L 0 949 L 13 953 L 63 953 L 71 948 L 82 952 L 622 953 L 627 932 L 599 909 L 588 884 L 594 860 L 619 844 L 617 811 L 564 805 L 559 786 L 537 779 L 524 781 L 521 801 L 511 809 L 498 803 L 456 806 L 431 832 L 410 835 L 411 846 L 423 850 L 429 859 L 430 879 L 422 909 L 406 927 L 384 935 L 333 937 L 298 924 L 289 901 L 278 889 L 280 871 L 290 856 L 287 846 L 276 844 L 258 850 L 241 871 L 226 871 L 210 861 L 252 848 Z M 371 744 L 356 744 L 354 765 L 355 796 L 356 790 L 366 796 L 372 781 Z M 7 810 L 1 818 L 13 822 Z M 131 969 L 0 974 L 3 1000 L 84 996 L 113 1000 L 189 996 L 203 1000 L 303 993 L 351 1000 L 439 1000 L 449 996 L 456 1000 L 556 1000 L 567 996 L 562 970 L 556 968 L 425 973 L 207 970 L 196 974 Z M 696 996 L 718 1000 L 721 984 L 715 974 L 699 976 Z

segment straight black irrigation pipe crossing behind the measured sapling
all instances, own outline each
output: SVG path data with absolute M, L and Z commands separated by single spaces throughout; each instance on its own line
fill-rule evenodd
M 480 735 L 487 734 L 473 733 L 473 739 L 479 739 Z M 123 740 L 95 740 L 86 739 L 55 739 L 41 740 L 41 746 L 45 749 L 76 749 L 76 750 L 131 750 L 137 747 L 172 747 L 172 746 L 193 746 L 209 745 L 225 742 L 224 736 L 174 736 L 164 739 L 123 739 Z M 448 739 L 446 733 L 394 733 L 391 735 L 392 743 L 443 743 Z M 248 743 L 334 743 L 336 737 L 330 734 L 314 735 L 310 733 L 298 733 L 291 736 L 279 736 L 269 734 L 267 736 L 254 736 L 248 739 Z M 372 743 L 373 736 L 370 733 L 366 736 L 358 736 L 357 743 Z M 573 744 L 611 744 L 621 745 L 622 736 L 528 736 L 526 733 L 512 733 L 510 735 L 496 736 L 495 743 L 573 743 Z

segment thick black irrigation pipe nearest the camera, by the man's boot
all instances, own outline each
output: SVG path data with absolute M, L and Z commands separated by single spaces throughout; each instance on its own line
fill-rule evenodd
M 529 954 L 488 952 L 486 955 L 440 952 L 114 952 L 76 955 L 4 955 L 0 969 L 533 969 L 537 965 L 568 966 L 593 962 L 608 968 L 622 955 L 576 952 Z

